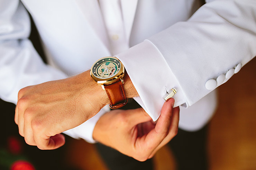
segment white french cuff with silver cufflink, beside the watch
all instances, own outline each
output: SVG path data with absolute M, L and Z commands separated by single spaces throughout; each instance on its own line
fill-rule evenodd
M 163 97 L 172 88 L 177 93 L 174 107 L 185 103 L 182 89 L 161 52 L 149 40 L 145 40 L 117 57 L 125 66 L 139 97 L 134 99 L 156 121 L 165 102 Z M 175 61 L 173 63 L 175 64 Z

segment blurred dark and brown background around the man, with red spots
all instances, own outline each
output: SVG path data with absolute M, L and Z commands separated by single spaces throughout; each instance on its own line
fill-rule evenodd
M 30 39 L 45 61 L 33 23 L 31 27 Z M 255 68 L 256 59 L 253 59 L 218 88 L 219 107 L 209 124 L 207 144 L 210 170 L 256 169 Z M 14 104 L 0 100 L 0 112 L 1 170 L 107 170 L 93 144 L 66 136 L 63 147 L 39 150 L 19 136 Z M 167 147 L 160 149 L 153 160 L 155 170 L 175 170 L 175 158 Z

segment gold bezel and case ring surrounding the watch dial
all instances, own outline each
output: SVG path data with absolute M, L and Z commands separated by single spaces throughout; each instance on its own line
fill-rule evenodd
M 119 69 L 119 71 L 115 74 L 115 76 L 113 76 L 113 77 L 98 78 L 97 76 L 95 76 L 95 75 L 93 74 L 92 68 L 93 68 L 93 66 L 94 66 L 97 62 L 99 62 L 99 61 L 102 60 L 102 59 L 106 59 L 106 58 L 113 58 L 113 59 L 118 60 L 118 61 L 120 62 L 120 69 Z M 92 67 L 91 67 L 91 69 L 90 69 L 90 75 L 91 75 L 92 79 L 93 79 L 95 82 L 97 82 L 99 85 L 104 85 L 104 84 L 107 85 L 107 84 L 114 83 L 114 82 L 120 80 L 122 77 L 124 77 L 124 75 L 125 75 L 125 67 L 124 67 L 124 65 L 122 64 L 122 62 L 121 62 L 118 58 L 116 58 L 116 57 L 102 57 L 102 58 L 100 58 L 99 60 L 95 61 L 95 62 L 92 64 Z

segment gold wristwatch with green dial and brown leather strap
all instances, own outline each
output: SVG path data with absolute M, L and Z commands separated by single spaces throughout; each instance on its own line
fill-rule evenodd
M 124 91 L 125 67 L 116 57 L 103 57 L 90 70 L 92 79 L 106 91 L 111 109 L 118 109 L 127 103 Z

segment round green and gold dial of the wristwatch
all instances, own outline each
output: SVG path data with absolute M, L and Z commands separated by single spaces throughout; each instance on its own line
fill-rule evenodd
M 94 64 L 92 72 L 96 77 L 109 78 L 120 70 L 120 62 L 115 58 L 104 58 Z

